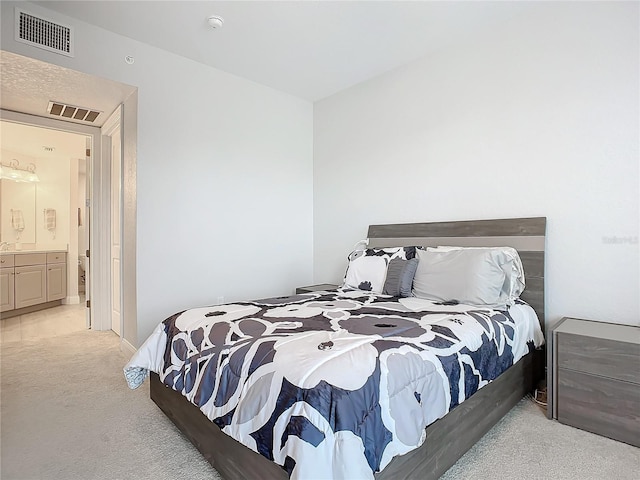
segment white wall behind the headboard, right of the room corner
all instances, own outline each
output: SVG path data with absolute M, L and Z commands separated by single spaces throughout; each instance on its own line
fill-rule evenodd
M 640 322 L 638 3 L 537 7 L 316 103 L 316 282 L 369 224 L 546 216 L 550 323 Z

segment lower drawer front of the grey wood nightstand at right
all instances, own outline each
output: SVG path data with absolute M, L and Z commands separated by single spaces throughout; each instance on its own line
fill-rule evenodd
M 640 386 L 558 371 L 558 421 L 640 446 Z

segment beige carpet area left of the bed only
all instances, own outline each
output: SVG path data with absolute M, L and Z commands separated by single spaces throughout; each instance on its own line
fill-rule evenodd
M 126 361 L 112 332 L 5 343 L 2 480 L 219 479 Z

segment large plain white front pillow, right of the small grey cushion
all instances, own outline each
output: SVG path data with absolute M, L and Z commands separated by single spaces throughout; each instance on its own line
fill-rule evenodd
M 417 250 L 413 295 L 431 301 L 457 301 L 480 307 L 511 304 L 504 292 L 504 266 L 513 259 L 493 249 Z

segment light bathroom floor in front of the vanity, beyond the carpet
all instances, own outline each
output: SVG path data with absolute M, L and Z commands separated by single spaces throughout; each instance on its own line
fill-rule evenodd
M 57 337 L 86 330 L 84 297 L 77 305 L 60 305 L 0 320 L 0 344 Z

